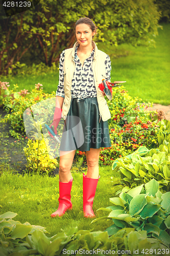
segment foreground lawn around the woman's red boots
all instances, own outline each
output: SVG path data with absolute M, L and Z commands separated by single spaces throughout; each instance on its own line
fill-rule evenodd
M 96 211 L 100 207 L 110 206 L 109 198 L 114 197 L 117 186 L 112 181 L 119 179 L 119 174 L 112 172 L 111 166 L 100 167 L 100 176 L 93 203 L 96 217 L 105 216 L 104 212 Z M 67 232 L 71 227 L 80 229 L 104 231 L 112 225 L 112 221 L 99 221 L 91 223 L 91 219 L 83 216 L 83 174 L 72 169 L 71 201 L 73 208 L 59 218 L 50 215 L 58 208 L 59 184 L 58 176 L 55 178 L 38 175 L 13 175 L 4 172 L 0 177 L 0 207 L 1 213 L 16 212 L 15 221 L 46 227 L 52 237 L 58 232 Z M 111 178 L 112 177 L 112 178 Z

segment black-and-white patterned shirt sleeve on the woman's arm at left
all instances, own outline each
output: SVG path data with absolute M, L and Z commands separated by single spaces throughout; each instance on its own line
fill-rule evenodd
M 60 55 L 60 61 L 59 61 L 59 84 L 56 91 L 56 96 L 65 97 L 64 94 L 64 70 L 63 70 L 63 63 L 64 63 L 64 56 L 65 51 L 62 51 Z

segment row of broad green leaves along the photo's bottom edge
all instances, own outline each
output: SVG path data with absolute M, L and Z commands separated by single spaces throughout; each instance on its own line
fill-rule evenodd
M 137 232 L 134 228 L 120 229 L 109 237 L 108 232 L 105 231 L 78 231 L 75 227 L 67 233 L 58 233 L 48 238 L 44 234 L 46 232 L 44 227 L 30 225 L 28 222 L 21 224 L 19 221 L 12 220 L 16 215 L 14 212 L 0 215 L 0 253 L 2 256 L 59 256 L 66 252 L 66 255 L 72 255 L 76 250 L 79 250 L 80 254 L 90 253 L 92 255 L 93 253 L 112 255 L 117 254 L 118 250 L 122 252 L 121 255 L 126 255 L 126 253 L 135 255 L 134 250 L 139 253 L 149 251 L 150 255 L 155 255 L 158 249 L 167 250 L 159 239 L 147 238 L 146 231 Z M 135 243 L 132 243 L 132 239 L 135 239 Z

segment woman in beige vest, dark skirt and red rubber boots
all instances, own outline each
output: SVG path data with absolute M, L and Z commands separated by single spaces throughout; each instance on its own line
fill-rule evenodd
M 65 120 L 60 145 L 59 162 L 59 207 L 51 216 L 61 216 L 72 208 L 70 173 L 76 149 L 86 151 L 87 174 L 83 174 L 84 217 L 95 217 L 93 199 L 99 176 L 100 147 L 110 147 L 108 119 L 111 117 L 104 93 L 99 88 L 102 79 L 110 81 L 111 61 L 98 50 L 92 38 L 96 27 L 90 18 L 84 17 L 75 24 L 77 42 L 60 55 L 59 86 L 56 92 L 56 109 L 53 123 L 55 134 L 61 115 Z M 62 109 L 62 110 L 61 110 Z M 73 131 L 75 118 L 81 121 L 79 133 Z M 83 138 L 83 143 L 79 143 Z M 77 143 L 76 143 L 77 142 Z M 75 143 L 75 144 L 74 144 Z M 80 145 L 78 145 L 80 144 Z M 75 147 L 76 145 L 76 147 Z

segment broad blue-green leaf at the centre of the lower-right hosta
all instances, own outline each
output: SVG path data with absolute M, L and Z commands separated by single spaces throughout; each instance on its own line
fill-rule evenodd
M 143 209 L 143 207 L 147 204 L 147 199 L 145 199 L 145 194 L 135 196 L 129 205 L 129 214 L 137 215 Z

